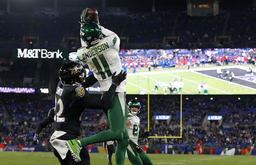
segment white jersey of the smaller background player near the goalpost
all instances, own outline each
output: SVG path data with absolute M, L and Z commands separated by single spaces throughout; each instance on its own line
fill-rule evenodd
M 128 129 L 130 139 L 138 145 L 139 132 L 140 132 L 140 118 L 137 115 L 128 113 L 128 118 L 131 125 Z

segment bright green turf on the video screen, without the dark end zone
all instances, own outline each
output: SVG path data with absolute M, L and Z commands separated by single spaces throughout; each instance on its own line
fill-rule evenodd
M 172 69 L 171 69 L 172 70 Z M 157 69 L 157 71 L 162 71 L 162 69 Z M 168 71 L 165 69 L 165 71 Z M 214 72 L 214 71 L 213 71 Z M 224 81 L 218 78 L 208 77 L 207 75 L 201 75 L 197 72 L 177 72 L 177 73 L 158 73 L 156 72 L 144 72 L 145 74 L 127 76 L 128 83 L 126 84 L 126 94 L 139 94 L 140 90 L 145 90 L 146 94 L 155 95 L 155 92 L 151 92 L 154 89 L 154 84 L 156 80 L 160 80 L 160 86 L 158 89 L 158 95 L 163 95 L 163 84 L 167 82 L 173 83 L 174 78 L 178 81 L 182 80 L 184 87 L 182 89 L 182 94 L 184 95 L 196 95 L 197 86 L 199 82 L 204 82 L 208 84 L 209 95 L 251 95 L 256 94 L 256 89 L 251 89 L 250 87 L 241 86 L 239 84 L 229 84 L 229 79 Z M 168 95 L 170 90 L 167 89 Z M 201 95 L 204 94 L 203 88 L 201 89 Z

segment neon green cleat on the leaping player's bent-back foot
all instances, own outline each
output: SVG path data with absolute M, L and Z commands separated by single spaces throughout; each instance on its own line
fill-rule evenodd
M 71 156 L 75 160 L 75 162 L 81 162 L 81 157 L 80 157 L 80 151 L 82 147 L 78 144 L 76 139 L 69 140 L 66 142 L 67 147 L 69 148 L 71 152 Z

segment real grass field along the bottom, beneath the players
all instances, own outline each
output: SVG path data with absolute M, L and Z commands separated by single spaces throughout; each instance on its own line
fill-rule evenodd
M 254 164 L 255 156 L 148 154 L 154 165 L 241 165 Z M 90 153 L 91 165 L 107 165 L 107 154 Z M 112 156 L 115 165 L 114 154 Z M 59 165 L 52 152 L 1 152 L 1 165 Z M 131 165 L 128 158 L 125 165 Z

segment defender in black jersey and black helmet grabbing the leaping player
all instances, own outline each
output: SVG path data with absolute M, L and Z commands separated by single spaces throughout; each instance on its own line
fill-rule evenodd
M 55 93 L 54 126 L 55 132 L 50 138 L 53 152 L 62 165 L 90 165 L 90 157 L 85 147 L 81 150 L 80 162 L 74 162 L 72 152 L 66 147 L 70 139 L 78 138 L 81 130 L 81 116 L 85 108 L 106 109 L 114 97 L 117 86 L 126 78 L 126 72 L 116 76 L 113 74 L 111 86 L 102 99 L 91 96 L 85 89 L 95 83 L 95 78 L 90 75 L 86 78 L 84 68 L 76 62 L 66 62 L 59 69 L 59 83 Z M 84 83 L 85 82 L 85 83 Z M 82 85 L 84 83 L 84 86 Z M 52 114 L 52 111 L 51 111 Z M 50 121 L 49 121 L 50 122 Z

